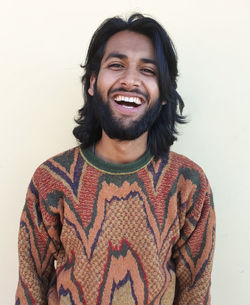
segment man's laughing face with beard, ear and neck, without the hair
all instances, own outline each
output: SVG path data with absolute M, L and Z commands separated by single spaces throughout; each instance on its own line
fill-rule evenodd
M 92 74 L 88 89 L 102 127 L 96 154 L 104 160 L 128 163 L 146 151 L 147 131 L 165 103 L 159 99 L 157 71 L 147 36 L 124 30 L 107 42 L 98 76 Z

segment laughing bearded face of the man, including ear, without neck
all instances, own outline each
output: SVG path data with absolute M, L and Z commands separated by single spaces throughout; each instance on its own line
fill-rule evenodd
M 138 137 L 138 127 L 139 135 L 145 132 L 161 108 L 157 74 L 154 48 L 148 37 L 129 31 L 113 35 L 106 44 L 98 77 L 91 77 L 88 90 L 99 101 L 100 116 L 106 115 L 102 121 L 109 125 L 112 121 L 113 129 L 122 128 L 124 135 L 129 132 L 127 139 L 133 138 L 131 133 Z M 117 136 L 117 132 L 111 135 Z

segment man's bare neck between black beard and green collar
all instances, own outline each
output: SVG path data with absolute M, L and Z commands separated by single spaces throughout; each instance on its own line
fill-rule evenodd
M 111 139 L 102 131 L 102 137 L 95 146 L 95 154 L 111 163 L 130 163 L 139 159 L 147 149 L 148 133 L 132 141 Z

